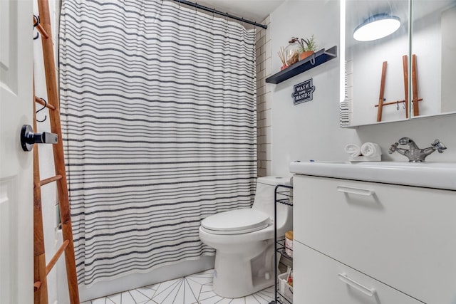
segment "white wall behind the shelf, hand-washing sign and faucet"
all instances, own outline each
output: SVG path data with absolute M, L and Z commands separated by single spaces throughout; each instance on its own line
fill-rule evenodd
M 291 36 L 314 36 L 322 48 L 339 46 L 339 2 L 337 0 L 285 1 L 271 14 L 272 72 L 280 70 L 280 46 Z M 456 160 L 456 116 L 419 118 L 388 122 L 357 129 L 339 127 L 340 57 L 295 76 L 279 85 L 268 84 L 272 93 L 272 163 L 271 173 L 290 176 L 289 163 L 300 159 L 347 160 L 343 152 L 348 143 L 378 142 L 383 159 L 407 160 L 388 154 L 388 148 L 400 137 L 410 137 L 419 147 L 427 147 L 436 138 L 448 149 L 427 157 L 428 161 Z M 437 75 L 439 76 L 439 75 Z M 314 100 L 293 105 L 293 85 L 313 78 Z

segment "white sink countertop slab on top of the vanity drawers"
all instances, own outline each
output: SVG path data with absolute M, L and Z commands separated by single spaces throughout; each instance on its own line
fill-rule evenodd
M 456 162 L 291 162 L 290 172 L 319 177 L 456 190 Z

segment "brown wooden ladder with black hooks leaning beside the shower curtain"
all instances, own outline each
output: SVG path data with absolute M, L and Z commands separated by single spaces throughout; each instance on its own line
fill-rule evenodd
M 65 253 L 66 275 L 68 281 L 69 303 L 79 304 L 78 278 L 76 276 L 76 261 L 73 246 L 73 231 L 71 228 L 70 204 L 68 201 L 68 188 L 66 184 L 65 158 L 63 155 L 63 141 L 58 103 L 58 86 L 56 78 L 56 63 L 54 61 L 51 17 L 49 14 L 48 0 L 38 0 L 39 25 L 36 26 L 41 33 L 43 46 L 44 71 L 46 75 L 46 91 L 48 103 L 35 96 L 35 102 L 45 105 L 49 110 L 51 132 L 58 136 L 58 142 L 53 145 L 53 159 L 56 170 L 55 177 L 40 179 L 38 163 L 38 147 L 33 150 L 33 273 L 34 273 L 34 303 L 48 303 L 48 288 L 46 276 L 56 264 L 62 253 Z M 33 23 L 37 20 L 33 19 Z M 33 103 L 33 109 L 35 109 Z M 34 132 L 37 132 L 36 117 L 33 120 Z M 56 254 L 46 266 L 44 251 L 43 216 L 41 212 L 41 187 L 50 182 L 56 182 L 58 206 L 60 209 L 63 243 Z

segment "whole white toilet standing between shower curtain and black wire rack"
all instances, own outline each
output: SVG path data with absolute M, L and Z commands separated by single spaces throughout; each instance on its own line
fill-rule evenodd
M 239 298 L 274 285 L 274 189 L 284 177 L 259 177 L 249 209 L 225 211 L 203 219 L 199 238 L 215 248 L 212 288 L 223 298 Z M 277 236 L 291 230 L 292 210 L 277 204 Z

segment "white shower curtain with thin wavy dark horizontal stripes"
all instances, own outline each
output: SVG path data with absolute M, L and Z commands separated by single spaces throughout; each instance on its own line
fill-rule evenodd
M 254 31 L 161 0 L 63 0 L 60 85 L 80 284 L 213 255 L 199 223 L 248 208 Z

